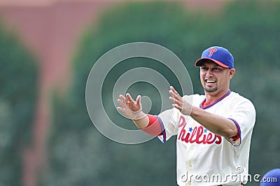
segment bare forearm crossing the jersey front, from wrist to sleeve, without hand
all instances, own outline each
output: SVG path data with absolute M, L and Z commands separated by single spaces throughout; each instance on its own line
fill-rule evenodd
M 226 138 L 237 135 L 237 127 L 232 120 L 193 106 L 190 117 L 202 124 L 203 127 L 219 136 Z

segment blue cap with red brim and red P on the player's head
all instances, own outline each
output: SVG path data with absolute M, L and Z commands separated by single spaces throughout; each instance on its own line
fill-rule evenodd
M 195 66 L 202 66 L 202 64 L 207 60 L 211 60 L 212 62 L 228 69 L 234 68 L 234 59 L 230 51 L 223 47 L 213 46 L 207 48 L 202 52 L 202 57 L 195 62 Z

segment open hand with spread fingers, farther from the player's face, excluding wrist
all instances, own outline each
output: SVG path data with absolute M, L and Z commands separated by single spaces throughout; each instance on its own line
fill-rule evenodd
M 141 96 L 137 96 L 136 101 L 132 99 L 132 96 L 130 96 L 129 93 L 127 93 L 125 96 L 120 94 L 118 103 L 121 107 L 118 106 L 117 109 L 120 110 L 125 115 L 125 117 L 128 117 L 132 120 L 139 120 L 144 117 L 142 113 Z

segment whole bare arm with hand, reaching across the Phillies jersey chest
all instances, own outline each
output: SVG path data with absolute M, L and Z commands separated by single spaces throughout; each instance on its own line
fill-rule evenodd
M 192 106 L 176 92 L 174 87 L 170 87 L 169 94 L 172 95 L 169 99 L 174 102 L 172 106 L 178 108 L 183 115 L 193 117 L 194 120 L 202 124 L 206 129 L 209 129 L 209 131 L 226 138 L 237 135 L 237 127 L 232 120 Z

